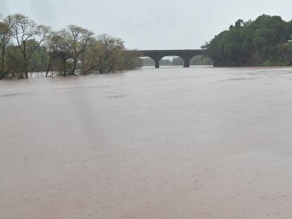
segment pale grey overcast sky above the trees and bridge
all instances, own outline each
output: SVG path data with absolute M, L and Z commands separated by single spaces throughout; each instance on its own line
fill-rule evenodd
M 290 20 L 291 8 L 292 0 L 0 0 L 4 16 L 23 13 L 56 30 L 80 25 L 129 49 L 200 49 L 238 18 Z

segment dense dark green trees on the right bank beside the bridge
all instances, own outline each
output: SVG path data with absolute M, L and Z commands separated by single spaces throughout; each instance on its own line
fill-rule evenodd
M 261 15 L 254 21 L 238 19 L 202 48 L 215 66 L 289 65 L 292 62 L 292 21 Z

